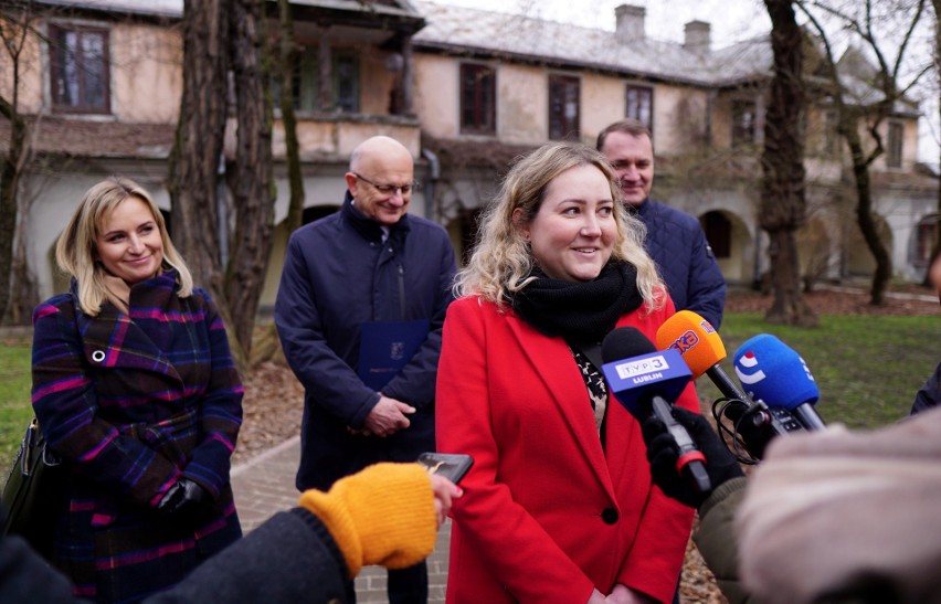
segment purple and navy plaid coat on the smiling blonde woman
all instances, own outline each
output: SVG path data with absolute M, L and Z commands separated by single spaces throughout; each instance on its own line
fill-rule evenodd
M 242 383 L 215 305 L 177 296 L 176 276 L 133 287 L 129 315 L 84 315 L 75 283 L 33 312 L 33 409 L 71 466 L 53 561 L 75 595 L 138 600 L 241 536 L 229 470 Z M 180 477 L 214 509 L 157 512 Z

